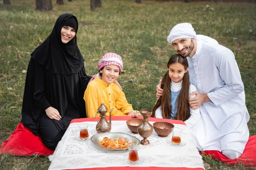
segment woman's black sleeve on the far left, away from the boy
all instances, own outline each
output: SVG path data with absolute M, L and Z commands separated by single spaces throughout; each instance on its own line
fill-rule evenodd
M 44 94 L 44 67 L 31 58 L 26 74 L 21 122 L 38 136 L 39 117 L 50 104 Z

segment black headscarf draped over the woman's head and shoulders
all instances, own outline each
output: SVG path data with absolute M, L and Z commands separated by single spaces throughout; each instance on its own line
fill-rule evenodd
M 84 59 L 77 46 L 76 36 L 66 44 L 61 42 L 63 26 L 72 26 L 76 33 L 78 31 L 76 17 L 72 14 L 62 14 L 56 20 L 52 33 L 32 52 L 31 56 L 54 73 L 75 74 L 84 66 Z

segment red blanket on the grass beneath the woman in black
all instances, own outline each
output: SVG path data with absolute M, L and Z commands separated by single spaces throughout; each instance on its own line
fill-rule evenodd
M 35 136 L 20 122 L 9 139 L 2 143 L 0 153 L 4 152 L 15 156 L 49 156 L 54 150 L 48 149 L 39 136 Z

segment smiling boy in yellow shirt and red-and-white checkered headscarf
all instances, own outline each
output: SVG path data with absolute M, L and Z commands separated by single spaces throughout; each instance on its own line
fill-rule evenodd
M 115 53 L 107 53 L 99 60 L 99 73 L 90 79 L 84 92 L 87 117 L 94 117 L 101 103 L 104 103 L 108 108 L 106 116 L 109 116 L 112 108 L 114 109 L 111 116 L 131 114 L 133 111 L 131 104 L 128 104 L 125 94 L 119 86 L 113 83 L 121 74 L 122 67 L 122 58 Z

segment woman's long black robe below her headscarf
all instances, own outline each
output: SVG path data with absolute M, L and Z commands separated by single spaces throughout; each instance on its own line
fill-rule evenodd
M 84 67 L 76 74 L 61 75 L 52 73 L 35 59 L 30 59 L 23 96 L 22 122 L 36 136 L 39 130 L 49 149 L 55 149 L 72 119 L 86 117 L 83 96 L 90 78 Z M 49 119 L 45 113 L 49 106 L 58 110 L 61 120 Z

